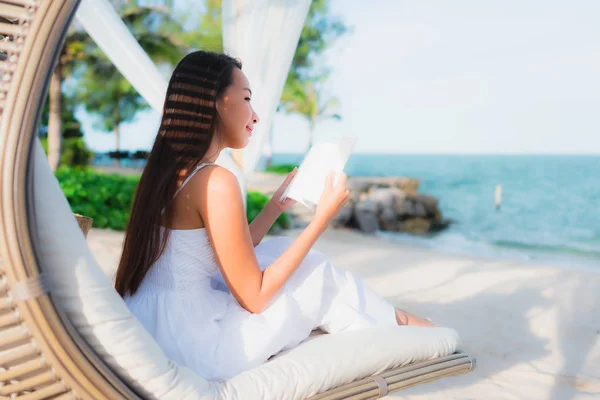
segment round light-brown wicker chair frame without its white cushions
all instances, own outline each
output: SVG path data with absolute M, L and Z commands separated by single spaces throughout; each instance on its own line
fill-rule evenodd
M 127 381 L 110 351 L 90 344 L 94 333 L 74 323 L 50 289 L 53 270 L 40 250 L 43 237 L 32 201 L 39 182 L 34 170 L 42 168 L 32 165 L 40 152 L 35 132 L 77 5 L 77 0 L 0 1 L 0 399 L 168 398 L 145 390 L 139 380 Z M 352 383 L 332 382 L 311 398 L 374 399 L 473 367 L 472 358 L 456 352 Z

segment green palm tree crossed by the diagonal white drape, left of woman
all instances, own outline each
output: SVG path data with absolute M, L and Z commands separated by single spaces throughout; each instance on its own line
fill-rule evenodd
M 146 54 L 157 64 L 176 64 L 185 54 L 181 26 L 168 8 L 121 4 L 119 13 Z M 148 104 L 97 47 L 88 54 L 88 66 L 81 76 L 78 98 L 90 114 L 98 117 L 97 126 L 115 134 L 115 163 L 119 164 L 120 126 L 133 120 Z

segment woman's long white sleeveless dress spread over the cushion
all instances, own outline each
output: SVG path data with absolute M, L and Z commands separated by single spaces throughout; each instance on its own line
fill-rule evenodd
M 290 243 L 274 238 L 255 247 L 261 269 Z M 167 357 L 208 380 L 259 366 L 316 328 L 337 333 L 397 325 L 390 303 L 315 250 L 260 314 L 236 302 L 219 271 L 205 229 L 172 230 L 164 253 L 125 298 Z

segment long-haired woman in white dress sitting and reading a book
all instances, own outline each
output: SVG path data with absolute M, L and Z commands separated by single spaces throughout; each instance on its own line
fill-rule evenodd
M 430 325 L 311 250 L 348 200 L 345 176 L 335 187 L 329 176 L 296 240 L 259 244 L 293 205 L 279 198 L 295 172 L 248 225 L 235 176 L 214 164 L 224 148 L 245 147 L 259 121 L 241 68 L 198 51 L 173 72 L 117 270 L 129 309 L 169 358 L 209 380 L 258 366 L 316 328 Z M 218 276 L 225 290 L 213 288 Z

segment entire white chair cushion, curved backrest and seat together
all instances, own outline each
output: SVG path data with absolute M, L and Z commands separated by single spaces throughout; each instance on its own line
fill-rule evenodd
M 447 328 L 392 327 L 317 335 L 226 382 L 168 360 L 94 260 L 35 141 L 33 201 L 41 269 L 52 297 L 122 379 L 147 398 L 299 399 L 388 368 L 451 354 Z

